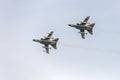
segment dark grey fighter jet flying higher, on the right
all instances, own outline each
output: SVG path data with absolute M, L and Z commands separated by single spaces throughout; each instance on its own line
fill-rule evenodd
M 85 39 L 85 34 L 87 34 L 87 33 L 85 33 L 85 30 L 87 30 L 92 35 L 93 34 L 93 27 L 95 25 L 95 23 L 92 23 L 92 24 L 88 23 L 88 19 L 89 18 L 90 17 L 87 16 L 85 18 L 85 20 L 83 22 L 81 22 L 80 24 L 79 23 L 68 24 L 68 26 L 71 26 L 71 27 L 74 27 L 76 29 L 79 29 L 80 30 L 79 33 L 81 33 L 82 38 Z

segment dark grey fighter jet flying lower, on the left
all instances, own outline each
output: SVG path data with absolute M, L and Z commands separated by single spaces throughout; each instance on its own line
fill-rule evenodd
M 45 37 L 45 38 L 41 38 L 40 40 L 39 39 L 33 39 L 33 41 L 43 44 L 44 46 L 42 48 L 45 48 L 46 51 L 44 51 L 44 52 L 46 52 L 48 54 L 49 54 L 49 49 L 52 49 L 51 47 L 49 47 L 49 45 L 51 45 L 54 49 L 57 49 L 56 44 L 59 40 L 59 38 L 56 38 L 56 39 L 51 38 L 52 34 L 53 34 L 53 31 L 50 32 L 48 34 L 48 36 Z

